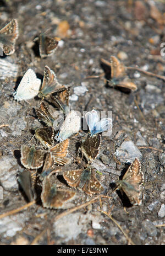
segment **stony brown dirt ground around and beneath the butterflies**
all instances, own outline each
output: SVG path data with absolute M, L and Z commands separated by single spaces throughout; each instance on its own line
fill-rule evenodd
M 17 182 L 18 170 L 23 169 L 20 147 L 32 137 L 31 129 L 42 127 L 33 109 L 39 99 L 29 100 L 30 104 L 13 100 L 13 89 L 27 68 L 32 68 L 38 78 L 43 77 L 45 65 L 52 68 L 59 82 L 71 86 L 71 109 L 82 114 L 92 109 L 112 111 L 112 135 L 102 137 L 101 151 L 94 163 L 102 173 L 97 178 L 106 188 L 105 194 L 110 196 L 112 184 L 122 174 L 127 160 L 130 162 L 131 150 L 125 160 L 117 154 L 124 141 L 136 146 L 144 185 L 140 206 L 128 205 L 115 191 L 112 198 L 97 199 L 57 220 L 67 209 L 97 196 L 76 190 L 76 198 L 66 204 L 66 209 L 45 209 L 37 202 L 17 214 L 3 218 L 0 215 L 0 244 L 165 244 L 164 81 L 128 69 L 138 90 L 125 93 L 107 86 L 104 79 L 86 79 L 102 74 L 101 58 L 109 61 L 111 55 L 127 67 L 163 76 L 165 57 L 160 54 L 160 45 L 165 42 L 164 13 L 164 3 L 158 0 L 1 1 L 1 28 L 17 18 L 19 38 L 15 53 L 0 58 L 1 70 L 4 61 L 8 65 L 7 73 L 0 71 L 0 125 L 8 125 L 0 128 L 0 213 L 27 203 Z M 67 23 L 61 29 L 63 21 Z M 53 56 L 42 59 L 33 40 L 46 30 L 48 35 L 61 38 L 62 43 Z M 70 143 L 71 158 L 78 154 L 76 143 Z M 74 163 L 63 170 L 80 167 Z M 52 175 L 52 179 L 67 187 L 61 174 Z

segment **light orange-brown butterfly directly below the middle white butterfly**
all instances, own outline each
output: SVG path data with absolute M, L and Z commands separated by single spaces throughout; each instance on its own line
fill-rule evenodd
M 68 153 L 68 147 L 69 139 L 67 138 L 67 140 L 58 143 L 56 146 L 49 149 L 51 157 L 54 160 L 54 164 L 63 166 L 63 164 L 69 164 L 71 162 L 71 159 L 66 157 Z

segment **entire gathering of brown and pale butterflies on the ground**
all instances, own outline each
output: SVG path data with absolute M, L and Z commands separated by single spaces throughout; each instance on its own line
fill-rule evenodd
M 13 54 L 15 51 L 15 41 L 19 35 L 17 19 L 11 20 L 0 30 L 0 47 L 5 55 Z M 39 40 L 39 50 L 41 58 L 50 56 L 57 49 L 59 39 L 50 38 L 45 34 L 40 34 L 36 40 Z M 35 40 L 35 41 L 36 41 Z M 116 57 L 111 56 L 111 63 L 103 62 L 111 67 L 111 84 L 119 87 L 135 90 L 136 86 L 127 78 L 123 79 L 125 67 Z M 126 81 L 127 80 L 127 81 Z M 64 202 L 73 199 L 75 191 L 69 189 L 59 189 L 56 185 L 51 184 L 50 176 L 57 171 L 59 166 L 72 163 L 67 157 L 70 138 L 73 134 L 79 132 L 81 128 L 81 115 L 78 111 L 67 111 L 69 108 L 70 87 L 63 86 L 57 81 L 56 74 L 45 66 L 43 81 L 36 77 L 33 70 L 29 69 L 24 74 L 21 82 L 14 92 L 15 100 L 29 100 L 34 97 L 41 99 L 40 106 L 35 108 L 39 120 L 45 123 L 45 127 L 35 129 L 35 138 L 39 141 L 42 148 L 36 149 L 33 146 L 21 146 L 21 164 L 26 168 L 19 172 L 18 182 L 23 188 L 27 198 L 31 201 L 36 199 L 36 192 L 32 185 L 31 173 L 29 169 L 40 169 L 39 175 L 42 182 L 41 200 L 43 207 L 62 208 Z M 51 113 L 44 100 L 53 104 L 56 109 L 60 110 L 56 118 Z M 59 114 L 62 113 L 62 114 Z M 96 110 L 89 111 L 85 114 L 84 119 L 89 127 L 89 133 L 81 141 L 80 151 L 86 158 L 87 166 L 84 169 L 75 169 L 64 171 L 63 177 L 68 185 L 78 188 L 86 194 L 100 194 L 105 190 L 95 175 L 95 169 L 91 163 L 98 156 L 101 146 L 101 132 L 112 129 L 112 119 L 103 118 L 100 120 Z M 58 130 L 58 132 L 57 132 Z M 56 135 L 55 135 L 56 132 Z M 55 141 L 57 142 L 56 145 Z M 58 167 L 57 167 L 58 166 Z M 116 183 L 116 189 L 122 189 L 127 194 L 131 204 L 141 204 L 140 186 L 144 180 L 141 172 L 139 159 L 135 158 L 134 162 L 128 168 L 121 180 Z

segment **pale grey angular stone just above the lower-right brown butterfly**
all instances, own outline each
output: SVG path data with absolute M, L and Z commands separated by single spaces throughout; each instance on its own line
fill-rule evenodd
M 115 152 L 116 156 L 122 162 L 132 163 L 135 158 L 142 158 L 142 154 L 138 147 L 135 146 L 133 141 L 124 141 Z

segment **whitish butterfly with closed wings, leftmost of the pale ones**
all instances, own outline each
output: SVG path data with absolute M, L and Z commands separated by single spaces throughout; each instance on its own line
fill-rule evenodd
M 13 93 L 15 100 L 32 99 L 38 94 L 41 86 L 41 80 L 36 77 L 36 74 L 31 68 L 26 71 L 17 90 Z

